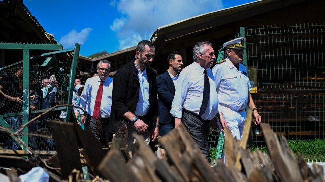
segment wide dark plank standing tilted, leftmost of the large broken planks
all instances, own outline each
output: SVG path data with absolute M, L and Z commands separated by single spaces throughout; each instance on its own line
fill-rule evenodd
M 55 148 L 59 157 L 61 172 L 68 179 L 73 169 L 82 171 L 77 137 L 73 123 L 49 120 Z

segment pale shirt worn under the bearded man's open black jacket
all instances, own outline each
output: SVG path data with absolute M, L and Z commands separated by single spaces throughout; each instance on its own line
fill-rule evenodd
M 139 100 L 136 107 L 135 115 L 137 116 L 144 116 L 149 111 L 149 82 L 147 76 L 147 69 L 145 68 L 143 72 L 138 68 L 136 62 L 134 65 L 138 69 L 138 79 L 140 83 L 139 89 Z

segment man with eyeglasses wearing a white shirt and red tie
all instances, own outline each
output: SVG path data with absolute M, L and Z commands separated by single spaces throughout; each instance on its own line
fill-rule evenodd
M 112 134 L 108 130 L 111 116 L 113 79 L 109 77 L 111 63 L 100 60 L 97 65 L 99 76 L 87 79 L 80 96 L 80 122 L 86 124 L 93 135 L 107 146 Z

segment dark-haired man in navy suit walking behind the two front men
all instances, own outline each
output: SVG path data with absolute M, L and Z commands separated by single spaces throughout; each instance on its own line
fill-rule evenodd
M 170 114 L 172 102 L 178 79 L 178 73 L 182 69 L 183 59 L 178 51 L 173 51 L 167 57 L 168 70 L 157 76 L 157 89 L 159 98 L 159 123 L 160 135 L 164 136 L 175 128 L 175 118 Z

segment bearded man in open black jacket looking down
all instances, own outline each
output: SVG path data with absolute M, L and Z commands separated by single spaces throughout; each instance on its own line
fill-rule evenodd
M 155 54 L 153 43 L 143 40 L 136 48 L 136 58 L 114 75 L 110 132 L 126 138 L 133 152 L 133 133 L 143 135 L 146 144 L 159 134 L 157 82 L 150 69 Z

